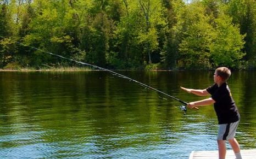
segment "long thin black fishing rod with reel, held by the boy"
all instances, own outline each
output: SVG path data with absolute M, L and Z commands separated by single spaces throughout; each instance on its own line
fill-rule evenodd
M 2 37 L 2 36 L 0 36 L 0 37 Z M 4 37 L 2 37 L 2 38 L 4 38 Z M 93 64 L 90 64 L 90 63 L 86 63 L 86 62 L 77 61 L 77 60 L 74 60 L 74 59 L 71 59 L 71 58 L 67 58 L 67 57 L 64 57 L 64 56 L 61 56 L 61 55 L 53 54 L 52 52 L 44 51 L 44 50 L 42 50 L 42 49 L 38 49 L 38 48 L 35 48 L 35 47 L 33 47 L 33 46 L 25 45 L 25 44 L 23 44 L 23 43 L 16 42 L 15 40 L 12 40 L 12 41 L 15 42 L 15 43 L 17 43 L 17 44 L 20 44 L 20 45 L 23 45 L 23 46 L 27 46 L 27 47 L 29 47 L 29 48 L 32 48 L 32 49 L 35 49 L 35 50 L 38 50 L 38 51 L 41 51 L 41 52 L 45 52 L 45 53 L 50 54 L 50 55 L 53 55 L 53 56 L 58 56 L 58 57 L 60 57 L 60 58 L 64 58 L 64 59 L 66 59 L 66 60 L 74 61 L 74 62 L 79 63 L 79 64 L 84 64 L 84 65 L 86 65 L 86 66 L 91 66 L 91 67 L 93 67 L 93 68 L 105 70 L 105 71 L 107 71 L 107 72 L 112 73 L 113 75 L 119 76 L 120 78 L 124 78 L 124 79 L 130 80 L 130 81 L 133 81 L 133 82 L 135 82 L 135 83 L 137 83 L 137 84 L 140 84 L 140 85 L 143 86 L 143 87 L 147 87 L 148 89 L 151 89 L 151 90 L 157 91 L 157 92 L 159 92 L 159 93 L 162 93 L 163 95 L 168 96 L 168 97 L 170 97 L 171 99 L 174 99 L 175 101 L 178 101 L 178 102 L 180 102 L 180 103 L 182 103 L 182 104 L 185 104 L 185 105 L 188 104 L 187 102 L 181 101 L 180 99 L 178 99 L 178 98 L 176 98 L 176 97 L 173 97 L 173 96 L 170 96 L 170 95 L 168 95 L 168 94 L 165 93 L 165 92 L 159 91 L 159 90 L 157 90 L 157 89 L 155 89 L 155 88 L 153 88 L 153 87 L 151 87 L 151 86 L 148 86 L 148 85 L 146 85 L 146 84 L 143 84 L 143 83 L 141 83 L 140 81 L 137 81 L 137 80 L 135 80 L 135 79 L 129 78 L 128 76 L 125 76 L 125 75 L 123 75 L 123 74 L 114 72 L 113 70 L 109 70 L 109 69 L 106 69 L 106 68 L 103 68 L 103 67 L 99 67 L 99 66 L 96 66 L 96 65 L 93 65 Z M 186 108 L 185 105 L 181 105 L 181 106 L 180 106 L 180 110 L 182 110 L 182 111 L 184 112 L 184 114 L 185 114 L 186 111 L 187 111 L 187 108 Z M 194 108 L 198 109 L 197 107 L 194 107 Z

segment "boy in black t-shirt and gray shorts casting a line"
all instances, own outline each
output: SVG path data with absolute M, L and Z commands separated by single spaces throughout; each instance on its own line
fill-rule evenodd
M 242 158 L 240 153 L 240 146 L 235 139 L 235 133 L 240 121 L 240 114 L 238 113 L 235 101 L 230 93 L 229 86 L 227 86 L 226 81 L 229 79 L 231 72 L 226 67 L 219 67 L 214 73 L 214 85 L 208 87 L 204 90 L 194 90 L 186 89 L 181 87 L 182 90 L 188 93 L 193 93 L 197 96 L 208 96 L 212 97 L 203 99 L 201 101 L 188 103 L 189 108 L 194 108 L 197 106 L 211 105 L 214 104 L 214 109 L 219 121 L 219 131 L 218 131 L 218 149 L 219 158 L 225 158 L 226 156 L 226 144 L 225 140 L 228 140 L 235 152 L 236 158 Z

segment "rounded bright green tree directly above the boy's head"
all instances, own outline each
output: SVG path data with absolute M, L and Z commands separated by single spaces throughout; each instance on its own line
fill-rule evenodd
M 244 36 L 239 28 L 233 26 L 229 16 L 220 16 L 215 19 L 216 31 L 213 43 L 210 44 L 211 58 L 217 66 L 238 68 L 240 60 L 245 55 L 243 48 Z

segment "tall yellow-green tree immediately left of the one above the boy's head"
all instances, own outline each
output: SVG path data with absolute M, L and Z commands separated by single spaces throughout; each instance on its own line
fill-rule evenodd
M 179 45 L 180 59 L 185 68 L 210 68 L 209 44 L 214 30 L 209 24 L 209 17 L 204 15 L 204 8 L 200 5 L 192 7 L 182 13 L 184 21 L 179 23 L 181 26 L 177 25 L 183 37 Z M 194 10 L 198 10 L 197 13 Z

